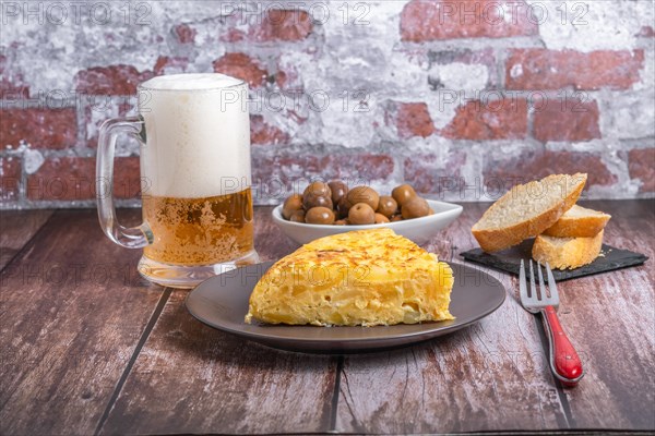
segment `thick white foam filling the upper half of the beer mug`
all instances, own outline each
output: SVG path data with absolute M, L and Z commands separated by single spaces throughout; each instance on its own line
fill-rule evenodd
M 175 74 L 143 83 L 143 194 L 201 198 L 250 186 L 248 85 L 223 74 Z

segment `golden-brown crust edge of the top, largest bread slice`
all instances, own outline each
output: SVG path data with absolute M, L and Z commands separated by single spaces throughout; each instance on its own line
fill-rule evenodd
M 555 180 L 555 178 L 558 177 L 561 178 L 565 175 L 548 175 L 547 178 L 539 181 L 539 183 L 550 182 L 551 180 Z M 509 198 L 510 195 L 516 193 L 519 186 L 512 187 L 510 192 L 508 192 L 496 203 L 493 203 L 491 207 L 489 207 L 489 209 L 485 211 L 480 220 L 473 226 L 473 235 L 480 244 L 480 247 L 486 252 L 497 252 L 500 250 L 509 249 L 510 246 L 520 244 L 528 238 L 540 234 L 541 232 L 544 232 L 544 230 L 551 227 L 558 219 L 560 219 L 562 215 L 564 215 L 567 210 L 573 207 L 575 202 L 577 202 L 577 198 L 580 197 L 580 194 L 584 189 L 584 184 L 586 183 L 587 174 L 576 173 L 571 178 L 576 179 L 576 184 L 575 187 L 571 190 L 569 195 L 567 195 L 564 198 L 562 198 L 561 202 L 559 202 L 551 208 L 545 210 L 544 213 L 537 215 L 536 217 L 521 221 L 510 227 L 498 229 L 476 229 L 476 226 L 478 226 L 479 222 L 485 220 L 485 217 L 487 216 L 487 214 L 489 214 L 489 210 L 491 210 L 493 207 L 501 207 L 502 203 L 507 202 L 507 198 Z

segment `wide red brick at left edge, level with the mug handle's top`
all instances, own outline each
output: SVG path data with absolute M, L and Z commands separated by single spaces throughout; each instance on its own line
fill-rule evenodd
M 78 140 L 73 108 L 0 109 L 0 143 L 14 148 L 25 141 L 33 148 L 62 149 Z

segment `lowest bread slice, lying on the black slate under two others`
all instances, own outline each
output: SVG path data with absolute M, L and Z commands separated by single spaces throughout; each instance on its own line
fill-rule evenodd
M 573 269 L 591 264 L 600 254 L 603 230 L 593 238 L 553 238 L 544 234 L 535 239 L 533 258 L 551 268 Z

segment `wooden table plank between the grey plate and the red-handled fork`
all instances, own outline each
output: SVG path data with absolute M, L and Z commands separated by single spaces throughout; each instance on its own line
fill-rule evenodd
M 469 229 L 483 211 L 479 205 L 464 205 L 460 219 L 427 249 L 450 261 L 453 253 L 475 246 Z M 458 256 L 454 261 L 462 262 Z M 537 325 L 516 300 L 516 280 L 489 272 L 509 291 L 505 303 L 489 317 L 425 344 L 345 358 L 337 431 L 400 434 L 568 427 Z

